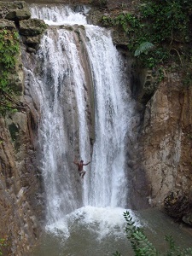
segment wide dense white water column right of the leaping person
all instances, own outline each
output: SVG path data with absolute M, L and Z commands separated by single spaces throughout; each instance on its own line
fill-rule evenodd
M 125 207 L 128 188 L 125 148 L 132 113 L 123 63 L 113 46 L 110 32 L 90 26 L 86 34 L 90 39 L 87 49 L 96 101 L 96 143 L 88 204 L 96 207 Z

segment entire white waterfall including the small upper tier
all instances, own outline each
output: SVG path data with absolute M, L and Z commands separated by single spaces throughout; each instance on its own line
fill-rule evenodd
M 36 54 L 38 67 L 26 70 L 40 105 L 39 157 L 47 222 L 54 224 L 80 207 L 87 216 L 94 207 L 102 218 L 104 208 L 125 208 L 129 203 L 125 164 L 134 103 L 124 61 L 108 30 L 86 24 L 88 9 L 31 10 L 32 18 L 66 25 L 49 27 Z M 77 154 L 84 162 L 91 160 L 84 166 L 84 180 L 73 165 Z

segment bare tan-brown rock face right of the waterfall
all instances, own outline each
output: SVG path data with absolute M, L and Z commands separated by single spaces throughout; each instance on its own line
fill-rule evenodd
M 174 189 L 191 197 L 191 96 L 177 73 L 166 74 L 146 104 L 139 143 L 152 206 Z

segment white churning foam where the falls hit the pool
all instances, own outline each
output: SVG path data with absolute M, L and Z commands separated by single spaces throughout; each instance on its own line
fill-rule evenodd
M 90 231 L 90 234 L 95 233 L 98 240 L 102 240 L 103 237 L 110 234 L 125 236 L 125 218 L 122 212 L 126 211 L 119 207 L 82 207 L 67 214 L 54 224 L 47 225 L 46 230 L 55 236 L 67 239 L 73 230 L 73 224 L 75 224 L 84 226 L 86 230 Z M 128 211 L 135 224 L 141 226 L 136 212 Z

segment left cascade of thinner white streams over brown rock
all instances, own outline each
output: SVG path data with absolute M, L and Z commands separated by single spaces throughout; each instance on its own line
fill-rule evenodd
M 79 106 L 79 147 L 83 150 L 82 157 L 88 158 L 86 152 L 90 151 L 82 86 L 85 81 L 76 46 L 67 31 L 47 32 L 38 52 L 38 61 L 43 73 L 36 79 L 36 90 L 41 96 L 39 142 L 47 194 L 47 218 L 49 223 L 53 223 L 63 214 L 73 212 L 79 205 L 73 193 L 75 189 L 69 162 L 70 143 L 73 144 L 76 122 L 73 96 L 76 97 L 75 101 Z M 64 88 L 63 84 L 67 84 L 68 87 Z M 67 119 L 70 121 L 67 122 Z

